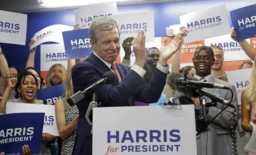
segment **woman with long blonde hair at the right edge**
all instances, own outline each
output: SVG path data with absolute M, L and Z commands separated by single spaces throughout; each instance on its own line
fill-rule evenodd
M 255 61 L 255 60 L 254 60 Z M 252 66 L 252 73 L 250 77 L 250 85 L 244 91 L 242 91 L 241 95 L 241 113 L 242 113 L 242 129 L 246 132 L 252 132 L 252 125 L 250 121 L 256 123 L 253 119 L 255 119 L 256 112 L 256 64 L 254 63 Z M 249 153 L 249 155 L 254 155 Z

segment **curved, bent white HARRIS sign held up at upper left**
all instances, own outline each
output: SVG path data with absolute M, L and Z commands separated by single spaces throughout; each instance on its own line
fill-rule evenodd
M 33 49 L 45 42 L 56 42 L 64 45 L 62 32 L 71 30 L 73 30 L 73 27 L 68 25 L 57 24 L 48 26 L 34 35 L 33 38 L 36 41 L 31 45 L 30 49 Z

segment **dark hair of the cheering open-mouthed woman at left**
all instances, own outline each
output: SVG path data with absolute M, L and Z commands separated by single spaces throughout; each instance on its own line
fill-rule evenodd
M 17 76 L 17 84 L 15 87 L 15 91 L 16 91 L 16 95 L 15 98 L 19 98 L 19 92 L 18 92 L 18 88 L 21 85 L 21 82 L 23 83 L 25 81 L 25 77 L 26 76 L 33 76 L 35 78 L 35 83 L 37 85 L 37 89 L 38 89 L 38 81 L 37 81 L 37 77 L 35 77 L 34 74 L 32 74 L 31 72 L 28 72 L 27 70 L 22 70 L 21 72 L 19 72 L 18 76 Z M 23 79 L 23 80 L 22 80 Z M 21 96 L 20 96 L 21 97 Z

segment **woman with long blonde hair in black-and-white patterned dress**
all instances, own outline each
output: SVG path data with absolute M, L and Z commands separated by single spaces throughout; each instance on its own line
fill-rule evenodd
M 56 123 L 60 138 L 58 141 L 59 155 L 71 155 L 76 140 L 76 127 L 78 123 L 77 106 L 70 107 L 67 99 L 74 94 L 71 72 L 69 72 L 64 93 L 60 100 L 55 103 Z

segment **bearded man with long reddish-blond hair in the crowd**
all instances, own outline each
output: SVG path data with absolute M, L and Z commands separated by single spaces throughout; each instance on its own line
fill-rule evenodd
M 46 77 L 46 87 L 66 83 L 67 70 L 62 64 L 54 64 L 50 67 Z

